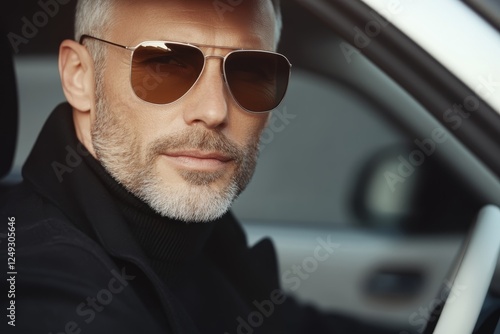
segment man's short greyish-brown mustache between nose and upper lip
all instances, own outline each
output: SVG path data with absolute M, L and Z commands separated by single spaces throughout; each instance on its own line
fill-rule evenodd
M 175 151 L 218 152 L 237 163 L 243 161 L 247 149 L 228 139 L 222 133 L 203 128 L 193 128 L 160 137 L 149 147 L 149 158 Z

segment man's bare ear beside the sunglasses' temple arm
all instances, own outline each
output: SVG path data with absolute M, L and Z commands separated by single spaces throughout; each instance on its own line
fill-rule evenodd
M 81 112 L 90 111 L 94 102 L 94 62 L 87 48 L 65 40 L 59 47 L 59 74 L 69 104 Z

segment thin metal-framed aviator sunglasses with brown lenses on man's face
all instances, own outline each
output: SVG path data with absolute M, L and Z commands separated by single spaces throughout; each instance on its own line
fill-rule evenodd
M 170 41 L 146 41 L 130 47 L 82 35 L 132 51 L 130 82 L 140 99 L 168 104 L 186 95 L 199 80 L 207 59 L 222 59 L 226 87 L 236 103 L 249 112 L 276 108 L 285 96 L 291 64 L 282 54 Z M 225 56 L 205 55 L 200 47 L 232 50 Z

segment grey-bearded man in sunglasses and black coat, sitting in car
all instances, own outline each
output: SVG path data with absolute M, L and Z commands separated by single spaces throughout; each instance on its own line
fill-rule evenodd
M 216 6 L 79 1 L 59 54 L 68 103 L 2 208 L 8 333 L 367 331 L 286 298 L 271 243 L 249 249 L 227 213 L 290 66 L 277 1 Z

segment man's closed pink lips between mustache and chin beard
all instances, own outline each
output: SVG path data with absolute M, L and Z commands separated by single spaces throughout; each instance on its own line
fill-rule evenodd
M 233 160 L 220 152 L 179 151 L 166 152 L 163 156 L 179 167 L 203 171 L 220 169 Z

